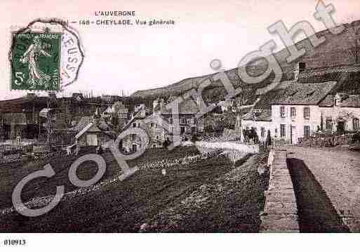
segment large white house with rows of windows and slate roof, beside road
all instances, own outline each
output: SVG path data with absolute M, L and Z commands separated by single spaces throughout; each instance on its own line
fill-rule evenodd
M 360 95 L 336 90 L 336 81 L 284 81 L 262 95 L 260 102 L 242 118 L 241 128 L 255 128 L 260 141 L 266 140 L 269 131 L 273 139 L 291 144 L 316 131 L 359 131 Z

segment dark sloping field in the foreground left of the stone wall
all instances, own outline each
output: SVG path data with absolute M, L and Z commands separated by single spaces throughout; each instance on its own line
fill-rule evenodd
M 145 153 L 137 162 L 147 159 L 170 159 L 195 153 L 192 147 L 159 154 Z M 111 154 L 104 155 L 107 173 L 103 179 L 119 172 Z M 144 223 L 151 222 L 172 208 L 184 215 L 182 202 L 188 202 L 187 218 L 178 228 L 169 225 L 149 232 L 256 232 L 258 230 L 260 192 L 256 173 L 259 157 L 251 157 L 239 168 L 225 157 L 215 157 L 198 163 L 169 168 L 166 175 L 160 169 L 140 170 L 124 181 L 116 181 L 90 192 L 85 196 L 62 200 L 52 211 L 36 218 L 27 218 L 18 213 L 1 216 L 1 232 L 139 232 Z M 65 185 L 66 191 L 76 188 L 69 183 L 67 171 L 74 158 L 51 161 L 57 175 L 51 180 L 34 180 L 24 191 L 23 199 L 55 194 L 55 185 Z M 243 160 L 245 161 L 245 160 Z M 136 161 L 135 161 L 136 163 Z M 140 163 L 138 163 L 140 164 Z M 240 163 L 238 164 L 240 165 Z M 95 164 L 86 164 L 79 169 L 79 178 L 91 178 Z M 131 165 L 132 166 L 132 165 Z M 3 197 L 1 208 L 11 206 L 11 193 L 16 183 L 32 171 L 35 166 L 19 164 L 1 167 L 0 175 Z M 222 188 L 213 190 L 211 188 Z M 208 201 L 200 208 L 193 205 L 191 197 L 209 191 Z M 250 217 L 249 217 L 250 215 Z M 197 223 L 197 225 L 196 225 Z M 191 225 L 189 225 L 191 224 Z M 154 226 L 152 226 L 154 227 Z M 158 225 L 159 227 L 159 225 Z

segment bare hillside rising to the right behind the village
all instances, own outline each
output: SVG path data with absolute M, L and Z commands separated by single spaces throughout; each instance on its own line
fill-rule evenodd
M 354 64 L 354 41 L 351 39 L 351 33 L 349 32 L 348 27 L 356 26 L 359 28 L 360 20 L 352 22 L 352 24 L 345 25 L 345 31 L 338 34 L 333 35 L 328 30 L 324 30 L 321 32 L 317 32 L 316 36 L 326 37 L 326 42 L 316 47 L 315 49 L 312 47 L 308 39 L 304 39 L 299 41 L 296 44 L 298 49 L 305 48 L 307 53 L 299 58 L 295 62 L 288 63 L 286 62 L 286 58 L 289 53 L 286 48 L 283 50 L 274 53 L 276 60 L 279 62 L 281 69 L 283 69 L 283 80 L 288 80 L 293 78 L 293 69 L 298 62 L 305 62 L 307 69 L 315 69 L 319 67 L 335 67 L 338 65 L 353 65 Z M 267 65 L 265 60 L 256 60 L 251 65 L 248 66 L 248 73 L 253 75 L 262 74 L 265 71 Z M 237 73 L 237 68 L 229 69 L 226 71 L 230 81 L 234 86 L 249 87 L 248 85 L 241 83 L 241 79 Z M 178 81 L 175 84 L 171 84 L 169 86 L 165 86 L 164 88 L 154 88 L 142 91 L 136 91 L 131 95 L 133 98 L 152 98 L 155 99 L 159 96 L 167 97 L 169 95 L 180 95 L 185 93 L 191 88 L 196 88 L 199 86 L 199 80 L 204 77 L 212 78 L 214 74 L 208 74 L 202 77 L 192 77 L 188 79 L 183 79 L 182 81 Z M 262 88 L 267 86 L 274 77 L 270 76 L 265 81 L 262 81 L 259 84 L 255 84 L 250 86 L 249 88 L 255 90 L 257 88 Z M 335 79 L 336 80 L 336 79 Z M 249 92 L 251 93 L 251 92 Z M 224 88 L 220 82 L 213 81 L 212 86 L 208 87 L 206 91 L 204 91 L 204 96 L 206 99 L 212 100 L 212 98 L 222 98 L 225 94 Z M 250 99 L 253 100 L 253 99 Z

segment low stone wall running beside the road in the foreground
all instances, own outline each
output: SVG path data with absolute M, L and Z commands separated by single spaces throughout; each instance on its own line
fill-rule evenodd
M 286 150 L 271 150 L 269 189 L 260 232 L 299 232 L 298 208 L 291 176 L 286 166 Z

